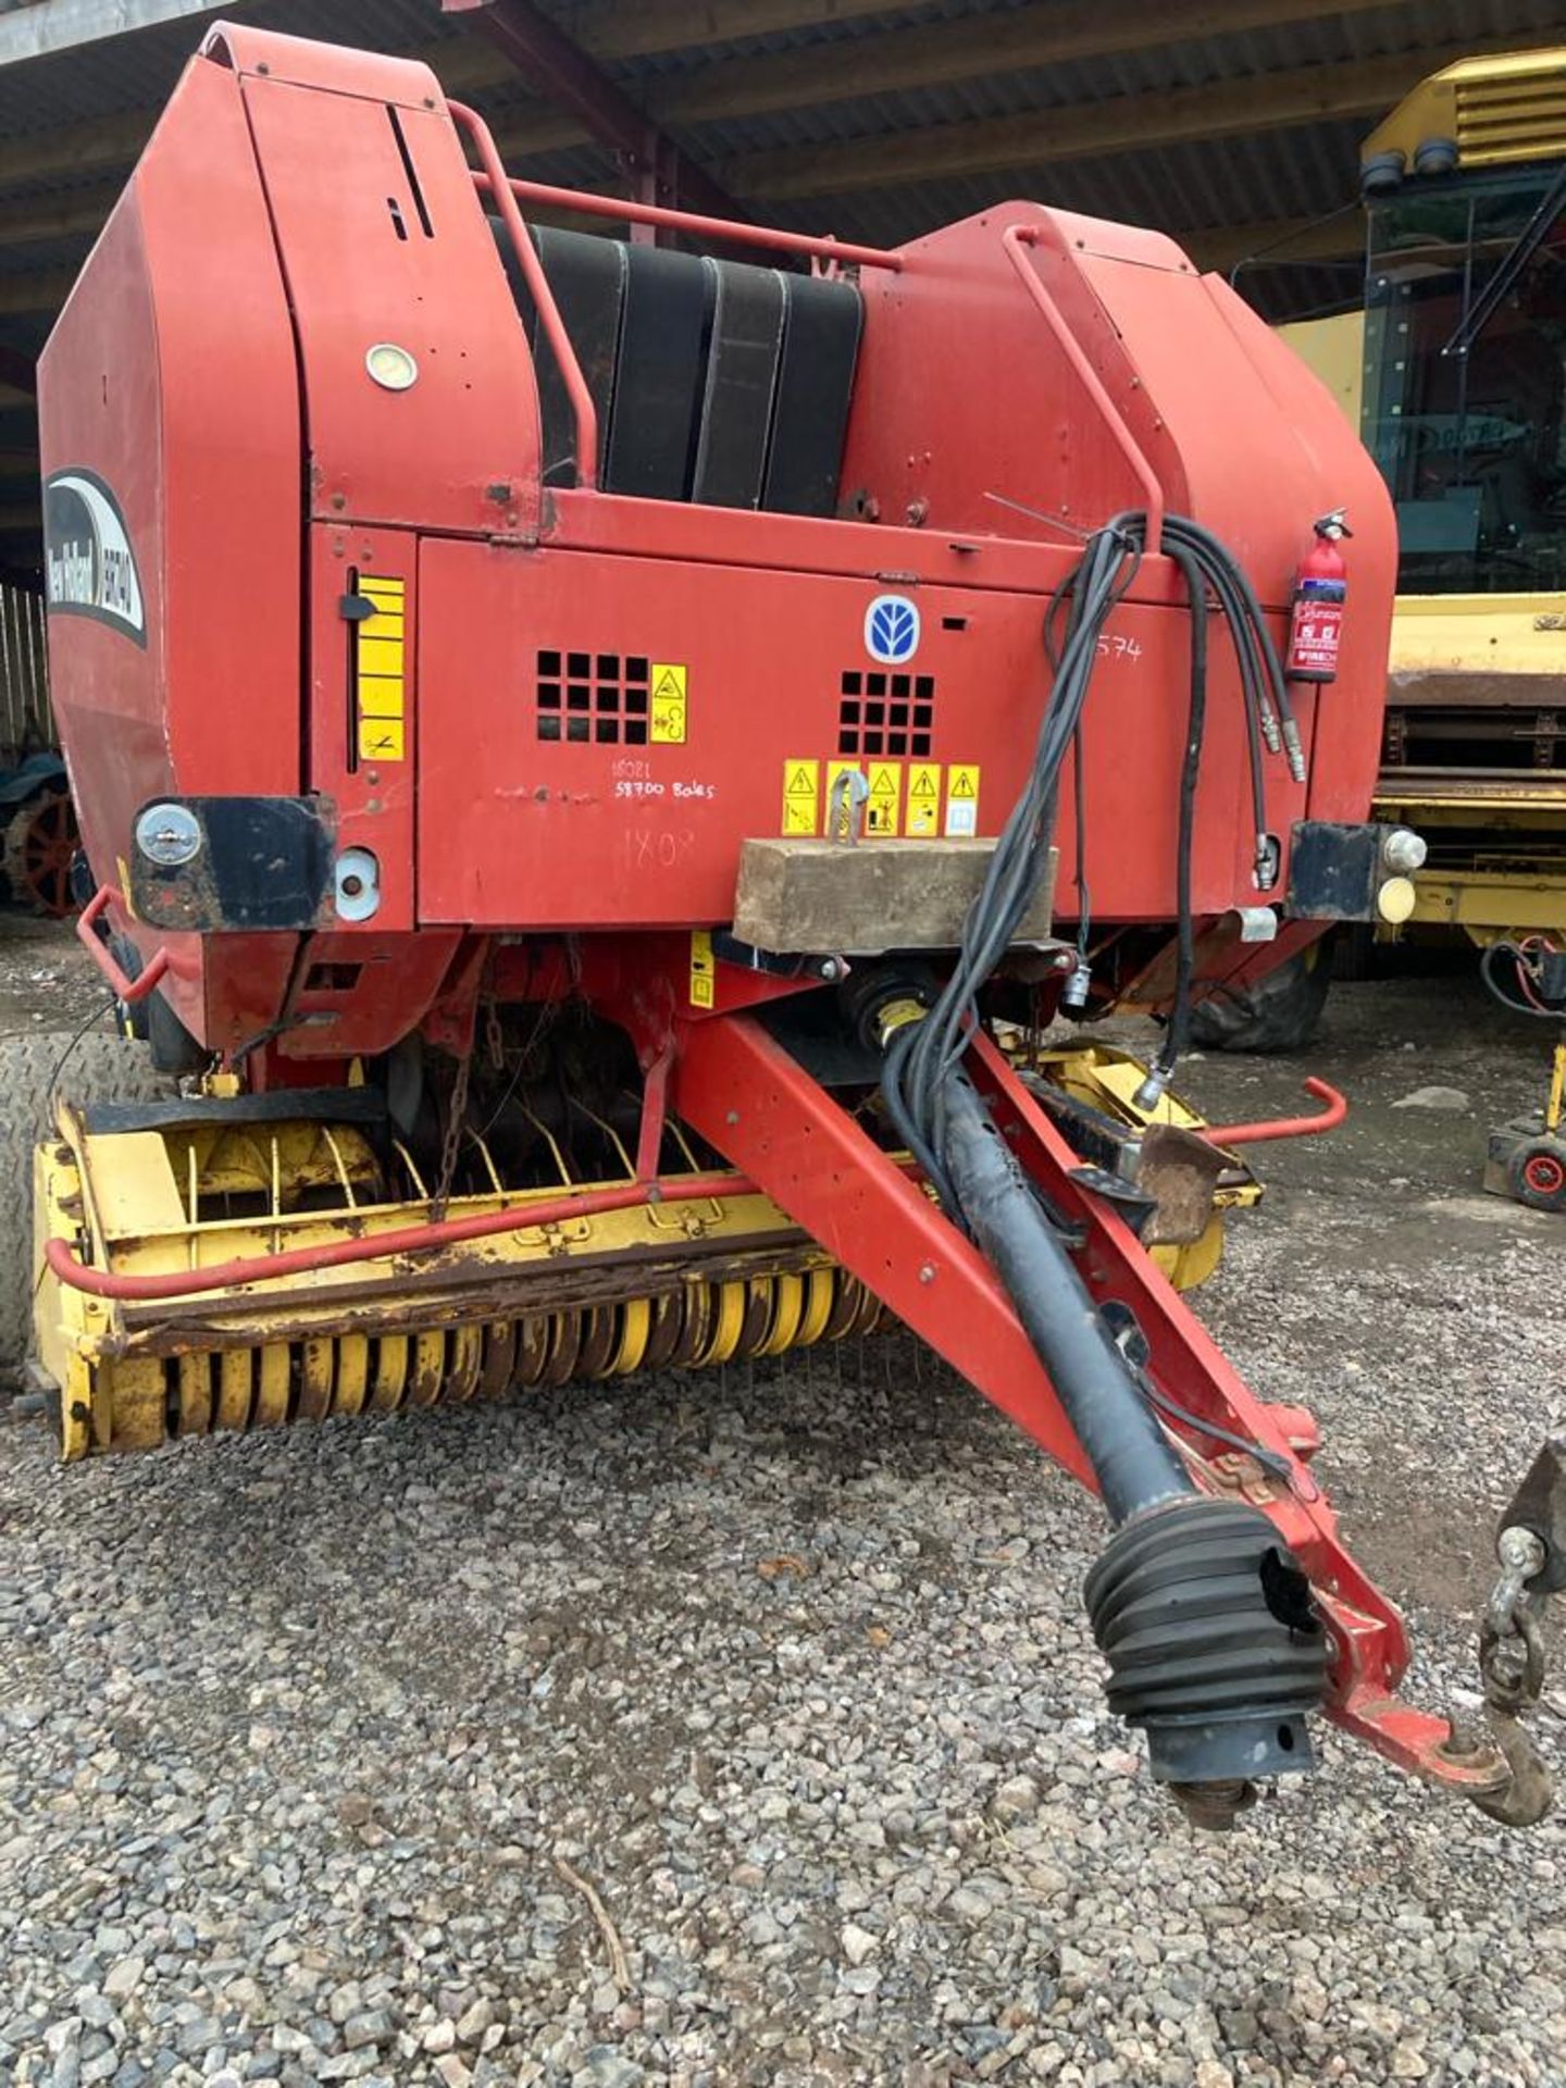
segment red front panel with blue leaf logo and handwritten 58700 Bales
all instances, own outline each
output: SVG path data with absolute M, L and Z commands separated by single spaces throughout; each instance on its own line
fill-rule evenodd
M 735 543 L 752 522 L 733 518 Z M 837 766 L 858 766 L 871 791 L 862 846 L 994 835 L 1048 695 L 1042 595 L 434 541 L 418 595 L 428 923 L 725 921 L 741 841 L 825 833 Z M 879 599 L 919 612 L 898 666 L 867 647 Z M 1186 647 L 1169 608 L 1125 603 L 1111 624 L 1086 733 L 1100 921 L 1169 906 Z M 1211 706 L 1199 910 L 1232 906 L 1251 864 L 1240 699 L 1221 649 Z M 1280 764 L 1270 804 L 1282 831 L 1303 808 Z M 1069 864 L 1069 793 L 1061 844 Z

